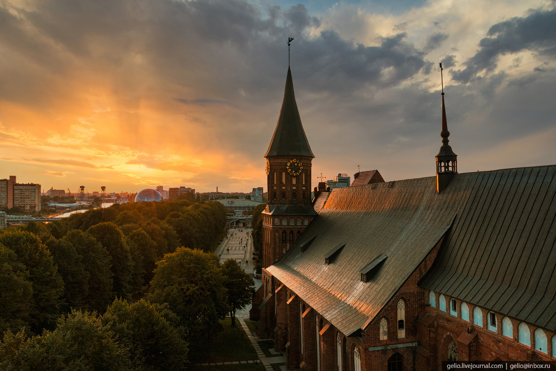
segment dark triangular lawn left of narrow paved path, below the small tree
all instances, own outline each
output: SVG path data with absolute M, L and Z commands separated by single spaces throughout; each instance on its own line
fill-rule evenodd
M 230 326 L 232 323 L 230 317 L 220 321 L 220 323 L 224 327 L 224 330 L 216 336 L 211 348 L 205 349 L 205 352 L 202 353 L 197 353 L 195 355 L 190 354 L 191 363 L 229 362 L 259 359 L 255 349 L 251 345 L 251 342 L 247 339 L 247 335 L 245 335 L 244 330 L 241 328 L 239 320 L 236 319 L 235 327 Z M 248 365 L 250 364 L 239 364 L 236 366 L 247 367 Z M 203 367 L 205 367 L 203 368 L 205 371 L 209 371 L 210 369 L 210 366 Z M 248 370 L 247 368 L 245 369 Z M 253 370 L 256 369 L 254 368 Z

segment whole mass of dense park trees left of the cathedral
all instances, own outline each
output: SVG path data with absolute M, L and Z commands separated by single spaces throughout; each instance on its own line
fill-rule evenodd
M 210 252 L 225 224 L 219 202 L 172 201 L 0 231 L 0 369 L 185 369 L 254 291 Z

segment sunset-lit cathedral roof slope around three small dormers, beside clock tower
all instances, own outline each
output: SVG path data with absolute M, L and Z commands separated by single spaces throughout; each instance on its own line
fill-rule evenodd
M 436 177 L 335 188 L 286 255 L 267 268 L 344 334 L 374 318 L 445 234 L 476 173 L 459 174 L 442 193 Z M 315 237 L 307 250 L 299 245 Z M 334 262 L 325 255 L 345 247 Z M 360 270 L 385 255 L 368 282 Z

